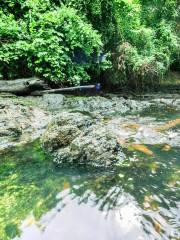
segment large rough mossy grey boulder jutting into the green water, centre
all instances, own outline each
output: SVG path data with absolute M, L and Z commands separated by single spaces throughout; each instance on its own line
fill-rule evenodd
M 82 113 L 64 112 L 59 115 L 49 125 L 42 143 L 58 164 L 109 167 L 125 158 L 116 135 Z

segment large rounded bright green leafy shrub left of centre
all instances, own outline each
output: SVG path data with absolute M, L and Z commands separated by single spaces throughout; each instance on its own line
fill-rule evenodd
M 100 54 L 100 35 L 72 8 L 62 7 L 40 14 L 30 23 L 29 67 L 61 84 L 89 79 L 93 54 Z

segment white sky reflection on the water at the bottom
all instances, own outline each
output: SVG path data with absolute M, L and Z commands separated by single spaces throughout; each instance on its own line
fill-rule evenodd
M 64 193 L 63 193 L 64 194 Z M 45 214 L 39 221 L 30 227 L 23 227 L 23 234 L 20 239 L 143 239 L 138 216 L 140 210 L 135 203 L 128 202 L 121 208 L 110 210 L 107 214 L 100 211 L 98 206 L 93 204 L 93 196 L 87 202 L 79 203 L 77 198 L 72 198 L 65 193 L 63 202 L 57 204 L 56 208 Z M 93 195 L 93 194 L 92 194 Z M 121 200 L 125 200 L 122 197 Z M 92 202 L 91 202 L 92 201 Z M 90 203 L 91 202 L 91 203 Z M 62 208 L 62 209 L 61 209 Z

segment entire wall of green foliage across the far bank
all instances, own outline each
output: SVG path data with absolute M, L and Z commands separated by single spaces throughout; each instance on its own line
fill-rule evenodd
M 72 85 L 112 66 L 106 81 L 144 87 L 180 68 L 178 0 L 1 2 L 3 78 L 39 75 Z

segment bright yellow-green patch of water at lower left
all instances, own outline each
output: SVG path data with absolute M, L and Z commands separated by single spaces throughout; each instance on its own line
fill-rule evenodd
M 0 159 L 0 239 L 15 237 L 31 212 L 39 218 L 55 203 L 58 178 L 52 161 L 33 143 Z M 58 187 L 57 187 L 58 186 Z

